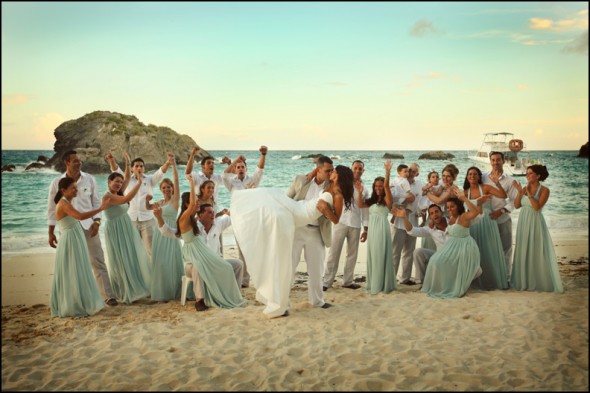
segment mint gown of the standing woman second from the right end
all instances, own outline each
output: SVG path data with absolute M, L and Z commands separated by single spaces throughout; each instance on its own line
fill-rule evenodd
M 481 185 L 479 186 L 479 195 L 483 195 Z M 477 199 L 471 199 L 471 189 L 468 192 L 468 198 L 471 203 L 477 205 Z M 508 289 L 500 230 L 498 223 L 490 218 L 492 201 L 483 204 L 482 212 L 471 222 L 469 227 L 469 234 L 479 248 L 482 269 L 481 276 L 473 281 L 472 287 L 484 290 Z

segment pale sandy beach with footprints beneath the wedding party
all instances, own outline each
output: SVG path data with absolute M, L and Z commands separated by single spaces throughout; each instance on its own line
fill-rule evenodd
M 339 277 L 334 307 L 312 308 L 301 263 L 290 316 L 277 319 L 254 288 L 232 310 L 145 299 L 52 318 L 54 253 L 3 256 L 2 390 L 587 391 L 588 238 L 554 243 L 563 294 L 438 300 L 399 285 L 371 296 Z M 361 283 L 365 256 L 363 245 Z

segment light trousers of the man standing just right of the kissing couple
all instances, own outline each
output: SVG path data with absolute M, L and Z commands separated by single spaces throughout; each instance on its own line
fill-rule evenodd
M 325 287 L 332 288 L 336 273 L 338 272 L 340 254 L 342 253 L 344 240 L 346 240 L 347 246 L 342 285 L 352 284 L 352 280 L 354 279 L 354 267 L 358 256 L 360 236 L 360 228 L 349 227 L 346 224 L 334 224 L 332 226 L 332 245 L 328 249 L 326 271 L 324 272 Z

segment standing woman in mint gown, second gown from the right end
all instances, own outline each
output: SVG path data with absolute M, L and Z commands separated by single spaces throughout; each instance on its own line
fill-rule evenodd
M 472 286 L 483 290 L 508 289 L 500 230 L 496 221 L 490 218 L 492 196 L 507 198 L 508 195 L 497 176 L 490 175 L 490 180 L 497 188 L 482 184 L 481 170 L 472 166 L 467 170 L 465 182 L 463 183 L 465 196 L 477 206 L 480 213 L 471 222 L 469 234 L 475 239 L 479 247 L 480 264 L 483 273 L 477 280 L 473 281 Z

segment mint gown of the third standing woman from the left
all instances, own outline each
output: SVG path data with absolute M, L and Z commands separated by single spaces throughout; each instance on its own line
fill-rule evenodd
M 175 209 L 169 202 L 162 208 L 164 222 L 171 228 L 176 228 Z M 152 300 L 168 301 L 180 299 L 184 263 L 182 261 L 182 246 L 180 239 L 163 236 L 160 231 L 154 231 L 152 240 L 152 281 L 150 293 Z

